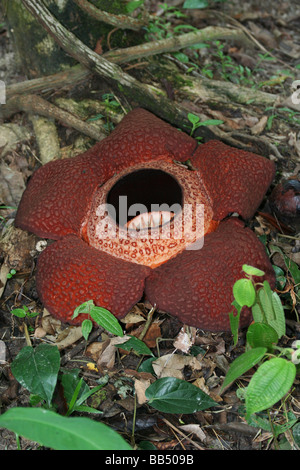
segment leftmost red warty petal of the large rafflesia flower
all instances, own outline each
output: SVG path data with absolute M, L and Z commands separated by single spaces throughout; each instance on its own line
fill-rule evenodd
M 91 162 L 86 153 L 39 168 L 23 193 L 16 227 L 53 240 L 79 233 L 95 188 L 107 179 L 105 165 L 101 164 L 101 178 L 100 164 L 95 174 Z

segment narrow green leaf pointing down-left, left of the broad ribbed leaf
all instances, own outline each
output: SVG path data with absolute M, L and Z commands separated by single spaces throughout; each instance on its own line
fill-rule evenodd
M 241 377 L 241 375 L 243 375 L 249 369 L 252 369 L 253 366 L 258 364 L 262 360 L 266 352 L 267 348 L 260 347 L 250 349 L 249 351 L 243 353 L 241 356 L 237 357 L 230 365 L 230 368 L 224 379 L 222 389 L 228 387 L 228 385 L 230 385 L 236 379 Z

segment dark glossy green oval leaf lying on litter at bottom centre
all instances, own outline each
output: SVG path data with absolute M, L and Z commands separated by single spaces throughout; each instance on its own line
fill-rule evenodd
M 149 405 L 165 413 L 195 413 L 218 404 L 200 388 L 175 377 L 157 379 L 146 390 Z

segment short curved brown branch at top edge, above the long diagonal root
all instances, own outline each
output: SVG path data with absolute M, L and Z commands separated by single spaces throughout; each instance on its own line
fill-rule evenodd
M 147 23 L 146 18 L 138 20 L 127 15 L 113 15 L 112 13 L 99 10 L 87 0 L 73 0 L 73 2 L 92 18 L 103 21 L 104 23 L 108 23 L 112 26 L 117 26 L 120 29 L 139 31 Z

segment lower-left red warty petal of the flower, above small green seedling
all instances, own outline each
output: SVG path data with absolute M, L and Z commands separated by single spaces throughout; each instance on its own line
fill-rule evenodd
M 85 314 L 72 320 L 74 309 L 87 300 L 124 317 L 140 300 L 144 280 L 151 270 L 119 260 L 80 238 L 69 235 L 48 246 L 39 256 L 36 285 L 41 301 L 56 318 L 80 324 Z

